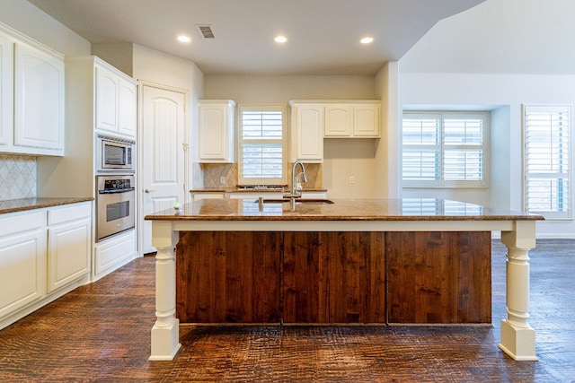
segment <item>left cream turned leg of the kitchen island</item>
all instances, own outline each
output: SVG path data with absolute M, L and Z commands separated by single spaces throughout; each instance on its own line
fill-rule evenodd
M 152 327 L 150 361 L 172 361 L 180 350 L 180 321 L 176 313 L 176 263 L 178 232 L 172 222 L 152 222 L 155 256 L 155 325 Z

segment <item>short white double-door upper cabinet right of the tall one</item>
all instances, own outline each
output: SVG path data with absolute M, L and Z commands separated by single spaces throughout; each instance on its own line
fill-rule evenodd
M 378 102 L 325 104 L 325 137 L 379 137 Z

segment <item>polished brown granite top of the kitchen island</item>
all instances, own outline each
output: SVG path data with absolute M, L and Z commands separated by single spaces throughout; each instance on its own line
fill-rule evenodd
M 436 198 L 331 199 L 333 204 L 258 204 L 253 199 L 202 199 L 146 215 L 147 221 L 536 221 L 541 215 Z

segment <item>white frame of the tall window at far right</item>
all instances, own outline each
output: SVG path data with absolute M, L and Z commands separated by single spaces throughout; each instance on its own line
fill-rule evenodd
M 566 111 L 569 115 L 569 122 L 567 125 L 567 159 L 566 163 L 568 165 L 567 171 L 549 171 L 549 172 L 529 172 L 528 162 L 529 159 L 529 151 L 528 151 L 528 113 L 553 113 L 559 112 L 559 110 Z M 553 221 L 572 221 L 573 220 L 573 201 L 574 193 L 573 193 L 573 148 L 575 145 L 573 144 L 573 135 L 575 134 L 575 128 L 573 127 L 573 108 L 571 104 L 553 104 L 553 105 L 542 105 L 542 104 L 523 104 L 522 105 L 522 113 L 521 113 L 521 127 L 522 127 L 522 170 L 523 170 L 523 182 L 522 182 L 522 209 L 527 213 L 537 213 L 543 215 L 545 220 L 553 220 Z M 563 146 L 565 147 L 565 146 Z M 571 166 L 570 166 L 571 165 Z M 537 177 L 539 175 L 539 177 Z M 557 179 L 564 179 L 567 178 L 569 183 L 568 187 L 568 196 L 565 198 L 566 203 L 568 204 L 567 211 L 558 211 L 558 210 L 538 210 L 538 209 L 529 209 L 529 180 L 530 179 L 537 179 L 537 178 L 557 178 Z M 550 198 L 551 199 L 551 198 Z M 551 201 L 550 201 L 551 202 Z

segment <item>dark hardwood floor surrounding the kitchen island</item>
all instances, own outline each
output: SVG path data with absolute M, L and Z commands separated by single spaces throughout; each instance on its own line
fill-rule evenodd
M 0 330 L 0 381 L 575 382 L 575 240 L 531 251 L 540 361 L 497 347 L 505 248 L 492 248 L 491 326 L 181 326 L 174 361 L 148 361 L 154 257 L 138 258 Z

